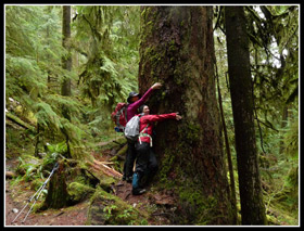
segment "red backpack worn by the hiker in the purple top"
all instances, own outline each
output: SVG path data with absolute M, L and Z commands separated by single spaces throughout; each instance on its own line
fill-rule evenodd
M 115 131 L 123 132 L 127 124 L 127 107 L 126 103 L 117 103 L 115 111 L 111 114 L 112 120 L 116 124 Z

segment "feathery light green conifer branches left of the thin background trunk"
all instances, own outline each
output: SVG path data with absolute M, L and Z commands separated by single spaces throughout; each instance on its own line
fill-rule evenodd
M 79 114 L 75 101 L 50 94 L 55 92 L 55 88 L 50 88 L 51 78 L 58 81 L 64 74 L 59 13 L 56 7 L 5 8 L 5 99 L 18 101 L 23 113 L 35 114 L 40 137 L 68 130 L 75 141 L 79 140 L 75 136 L 79 131 L 63 120 L 61 112 L 66 105 L 72 113 Z

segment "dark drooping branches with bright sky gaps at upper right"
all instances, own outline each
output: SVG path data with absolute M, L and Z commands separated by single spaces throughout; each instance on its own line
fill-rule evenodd
M 246 9 L 252 53 L 255 53 L 252 64 L 254 87 L 258 89 L 256 103 L 265 114 L 271 113 L 278 108 L 278 101 L 290 105 L 297 95 L 299 8 L 264 5 Z M 265 100 L 267 104 L 263 103 Z M 279 105 L 284 106 L 283 103 Z

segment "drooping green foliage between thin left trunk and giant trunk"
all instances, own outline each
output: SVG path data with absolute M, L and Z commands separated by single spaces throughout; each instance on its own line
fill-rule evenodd
M 77 39 L 87 39 L 89 46 L 81 47 L 86 53 L 80 64 L 79 81 L 83 80 L 83 92 L 93 105 L 101 103 L 111 108 L 118 101 L 125 101 L 128 92 L 136 84 L 138 52 L 134 42 L 138 28 L 126 26 L 122 20 L 134 18 L 129 14 L 134 8 L 125 7 L 76 7 L 78 15 L 74 23 Z M 87 38 L 84 34 L 91 35 Z M 128 47 L 126 47 L 126 44 Z

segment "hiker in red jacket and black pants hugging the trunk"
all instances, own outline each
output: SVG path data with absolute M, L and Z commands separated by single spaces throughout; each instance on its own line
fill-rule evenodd
M 150 115 L 149 106 L 142 105 L 139 107 L 139 113 L 143 114 L 140 117 L 140 134 L 136 143 L 137 159 L 136 169 L 132 177 L 132 194 L 140 195 L 145 190 L 144 184 L 150 182 L 151 178 L 157 171 L 157 161 L 152 151 L 153 141 L 153 124 L 165 119 L 180 120 L 181 116 L 178 113 Z M 145 180 L 144 180 L 145 178 Z

